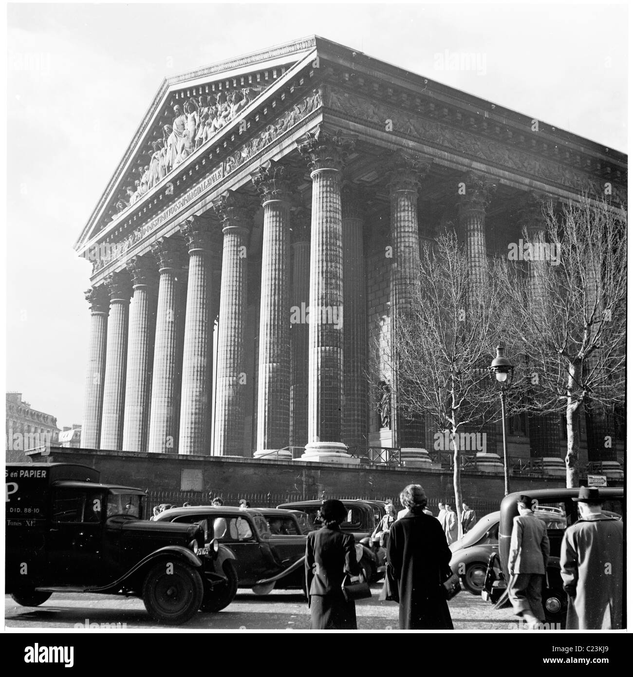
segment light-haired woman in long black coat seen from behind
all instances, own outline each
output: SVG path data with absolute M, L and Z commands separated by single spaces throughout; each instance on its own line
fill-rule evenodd
M 419 484 L 402 493 L 409 512 L 393 524 L 387 539 L 387 563 L 400 598 L 400 629 L 452 630 L 440 588 L 451 559 L 446 536 L 437 519 L 424 514 L 427 496 Z

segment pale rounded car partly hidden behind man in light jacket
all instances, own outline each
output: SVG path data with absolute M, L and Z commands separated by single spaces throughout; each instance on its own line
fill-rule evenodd
M 499 510 L 482 517 L 459 540 L 450 544 L 453 553 L 450 567 L 473 594 L 481 595 L 490 555 L 499 549 Z M 535 510 L 548 529 L 565 529 L 567 522 L 560 508 Z

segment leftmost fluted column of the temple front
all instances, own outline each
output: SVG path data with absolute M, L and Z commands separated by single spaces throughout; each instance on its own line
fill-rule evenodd
M 95 286 L 87 290 L 86 301 L 90 304 L 90 343 L 80 446 L 82 449 L 98 449 L 104 403 L 106 339 L 110 306 L 105 286 Z

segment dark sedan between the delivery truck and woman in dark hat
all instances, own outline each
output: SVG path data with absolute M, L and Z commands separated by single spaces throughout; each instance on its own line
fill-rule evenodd
M 187 506 L 165 510 L 157 520 L 198 524 L 205 538 L 230 548 L 235 558 L 230 576 L 236 588 L 252 588 L 256 594 L 305 588 L 305 536 L 290 510 Z M 269 521 L 282 524 L 278 533 L 271 533 Z M 284 528 L 296 533 L 281 533 Z

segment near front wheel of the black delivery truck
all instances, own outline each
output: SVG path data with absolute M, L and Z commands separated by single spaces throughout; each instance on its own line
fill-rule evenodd
M 143 584 L 143 602 L 158 623 L 179 626 L 200 609 L 204 586 L 196 569 L 182 562 L 160 562 Z

